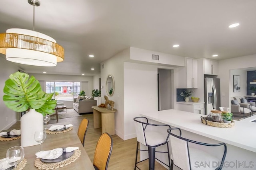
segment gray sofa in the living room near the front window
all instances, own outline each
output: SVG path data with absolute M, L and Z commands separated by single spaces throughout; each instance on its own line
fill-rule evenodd
M 73 108 L 79 114 L 93 112 L 92 106 L 97 106 L 97 100 L 79 100 L 77 103 L 74 98 Z

